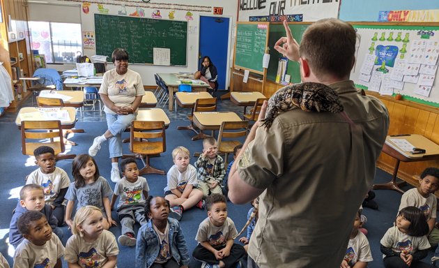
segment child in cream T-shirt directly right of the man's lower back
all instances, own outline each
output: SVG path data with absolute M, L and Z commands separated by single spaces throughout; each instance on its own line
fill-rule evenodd
M 361 210 L 359 209 L 355 216 L 351 237 L 349 237 L 348 249 L 340 268 L 364 268 L 367 267 L 368 262 L 373 260 L 369 241 L 359 230 L 362 224 Z

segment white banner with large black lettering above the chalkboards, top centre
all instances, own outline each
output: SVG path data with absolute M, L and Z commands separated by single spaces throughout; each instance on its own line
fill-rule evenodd
M 239 0 L 239 21 L 248 22 L 249 17 L 292 18 L 302 15 L 302 21 L 315 22 L 325 17 L 338 17 L 340 1 L 301 1 L 301 0 Z M 298 20 L 290 20 L 298 21 Z

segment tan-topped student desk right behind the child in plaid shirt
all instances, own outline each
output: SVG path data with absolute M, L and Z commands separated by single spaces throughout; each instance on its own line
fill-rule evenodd
M 242 121 L 235 112 L 194 112 L 194 124 L 201 131 L 215 131 L 221 127 L 223 121 Z M 200 132 L 192 137 L 192 140 L 200 140 L 209 137 Z

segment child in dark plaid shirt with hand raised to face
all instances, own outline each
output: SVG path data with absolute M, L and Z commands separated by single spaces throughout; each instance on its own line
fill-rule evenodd
M 221 184 L 226 174 L 224 161 L 217 154 L 217 141 L 214 137 L 203 140 L 203 154 L 195 162 L 198 168 L 198 186 L 206 198 L 210 193 L 222 193 Z

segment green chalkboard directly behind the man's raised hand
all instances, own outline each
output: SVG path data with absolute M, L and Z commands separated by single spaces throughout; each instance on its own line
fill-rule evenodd
M 302 23 L 290 23 L 288 26 L 293 33 L 293 37 L 298 43 L 302 40 L 302 35 L 309 26 L 310 23 L 302 24 Z M 282 36 L 286 36 L 284 24 L 276 23 L 270 24 L 270 31 L 268 37 L 268 45 L 270 46 L 270 64 L 268 64 L 267 70 L 267 79 L 271 81 L 276 81 L 277 74 L 277 66 L 279 64 L 279 57 L 282 57 L 282 54 L 275 50 L 275 43 Z M 300 83 L 300 70 L 299 64 L 295 61 L 288 61 L 288 68 L 286 69 L 286 73 L 291 75 L 291 82 Z

